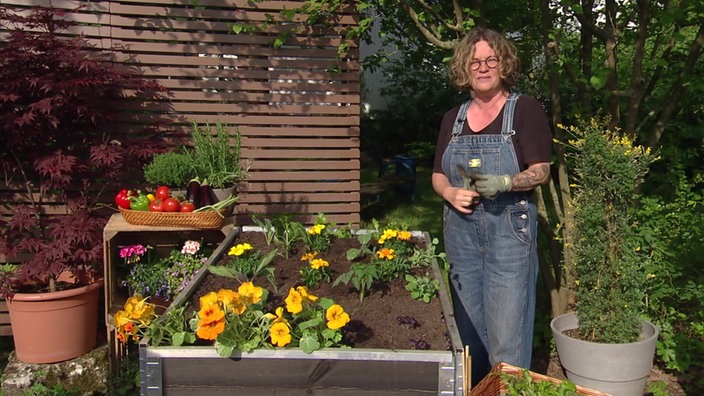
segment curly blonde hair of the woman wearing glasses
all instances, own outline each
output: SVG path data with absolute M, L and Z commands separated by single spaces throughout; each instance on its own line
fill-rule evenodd
M 489 43 L 489 46 L 496 52 L 496 56 L 500 60 L 501 85 L 504 90 L 510 91 L 511 87 L 516 84 L 520 65 L 516 47 L 501 33 L 484 27 L 475 27 L 470 30 L 455 47 L 449 65 L 450 81 L 461 90 L 472 89 L 470 61 L 474 57 L 475 45 L 482 40 Z

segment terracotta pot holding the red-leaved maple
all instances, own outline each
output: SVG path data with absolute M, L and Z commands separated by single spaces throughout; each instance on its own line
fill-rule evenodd
M 7 300 L 15 354 L 25 363 L 56 363 L 95 348 L 103 280 L 53 293 L 16 293 Z

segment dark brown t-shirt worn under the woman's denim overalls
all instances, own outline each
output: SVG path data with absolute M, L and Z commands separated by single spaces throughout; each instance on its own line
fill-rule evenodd
M 442 171 L 442 155 L 450 142 L 452 128 L 457 118 L 460 106 L 445 113 L 440 124 L 440 134 L 435 146 L 435 162 L 433 172 L 444 173 Z M 501 124 L 504 120 L 504 112 L 499 115 L 486 128 L 479 131 L 484 134 L 501 133 Z M 518 166 L 521 170 L 528 168 L 530 164 L 536 162 L 550 162 L 552 156 L 552 133 L 548 117 L 543 110 L 543 106 L 535 98 L 521 95 L 516 102 L 516 110 L 513 114 L 513 146 L 516 149 Z M 473 134 L 468 123 L 465 121 L 462 128 L 462 135 Z

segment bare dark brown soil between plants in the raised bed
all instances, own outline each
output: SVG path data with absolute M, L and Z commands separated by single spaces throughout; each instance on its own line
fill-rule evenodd
M 255 251 L 265 256 L 267 252 L 277 246 L 267 245 L 264 234 L 261 232 L 243 232 L 234 244 L 247 242 Z M 423 241 L 415 241 L 424 243 Z M 347 272 L 350 262 L 347 260 L 347 250 L 359 248 L 357 239 L 335 239 L 330 249 L 320 254 L 330 263 L 331 279 L 334 281 L 340 274 Z M 282 253 L 282 249 L 279 248 Z M 283 305 L 291 287 L 302 285 L 299 270 L 307 262 L 301 261 L 305 253 L 302 244 L 294 247 L 288 258 L 277 255 L 272 263 L 275 268 L 277 290 L 265 278 L 254 280 L 256 286 L 269 290 L 268 302 L 272 304 L 271 312 L 275 306 Z M 227 253 L 222 260 L 229 260 Z M 423 269 L 432 275 L 430 268 Z M 226 277 L 208 274 L 190 296 L 189 306 L 198 307 L 201 295 L 217 291 L 221 288 L 236 290 L 239 282 Z M 345 344 L 355 348 L 374 349 L 432 349 L 448 350 L 447 326 L 443 319 L 440 300 L 434 298 L 430 303 L 416 301 L 411 298 L 405 289 L 405 280 L 396 279 L 390 283 L 377 284 L 373 290 L 367 292 L 364 300 L 360 301 L 359 292 L 344 284 L 332 287 L 332 282 L 322 282 L 318 287 L 309 288 L 309 293 L 318 297 L 332 298 L 340 304 L 350 315 L 350 323 L 343 328 Z

